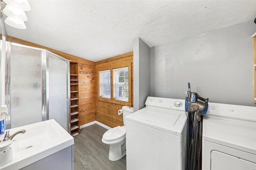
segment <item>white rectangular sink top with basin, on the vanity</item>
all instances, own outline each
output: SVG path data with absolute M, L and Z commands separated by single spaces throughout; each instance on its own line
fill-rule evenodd
M 1 170 L 20 169 L 74 144 L 74 138 L 53 119 L 12 128 L 10 135 L 24 129 L 12 139 L 13 159 Z

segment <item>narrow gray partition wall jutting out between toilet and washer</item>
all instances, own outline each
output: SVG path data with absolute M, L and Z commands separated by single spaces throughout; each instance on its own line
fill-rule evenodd
M 133 61 L 133 103 L 138 111 L 150 96 L 150 47 L 140 38 L 133 41 Z

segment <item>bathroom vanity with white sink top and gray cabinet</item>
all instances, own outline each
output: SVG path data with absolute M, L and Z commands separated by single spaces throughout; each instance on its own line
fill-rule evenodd
M 13 159 L 1 165 L 1 170 L 74 170 L 74 138 L 54 119 L 12 128 L 17 134 L 11 145 Z

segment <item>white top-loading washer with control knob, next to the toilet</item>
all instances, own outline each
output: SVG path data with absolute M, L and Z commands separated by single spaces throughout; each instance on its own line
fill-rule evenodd
M 127 170 L 185 170 L 185 101 L 148 97 L 146 107 L 126 117 Z

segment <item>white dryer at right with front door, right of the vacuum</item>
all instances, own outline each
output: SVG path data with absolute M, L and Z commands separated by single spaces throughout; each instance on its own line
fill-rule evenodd
M 209 103 L 202 170 L 256 170 L 256 107 Z

